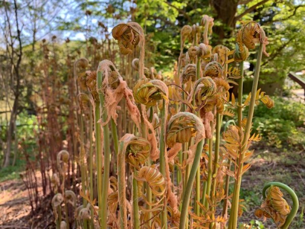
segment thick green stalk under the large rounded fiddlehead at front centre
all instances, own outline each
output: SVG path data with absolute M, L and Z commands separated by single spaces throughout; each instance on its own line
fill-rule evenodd
M 203 139 L 199 142 L 195 157 L 194 157 L 194 162 L 191 168 L 188 184 L 184 193 L 183 201 L 182 201 L 182 210 L 181 210 L 181 215 L 180 215 L 180 224 L 179 224 L 179 229 L 185 229 L 186 228 L 186 223 L 187 223 L 187 215 L 188 215 L 188 208 L 189 208 L 189 203 L 190 203 L 190 197 L 192 193 L 192 188 L 193 188 L 193 183 L 195 180 L 196 172 L 198 165 L 200 163 L 200 157 L 201 157 L 201 152 L 202 152 L 202 147 L 203 147 Z

